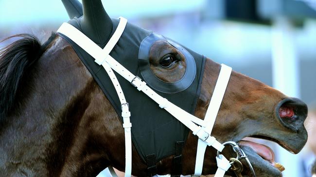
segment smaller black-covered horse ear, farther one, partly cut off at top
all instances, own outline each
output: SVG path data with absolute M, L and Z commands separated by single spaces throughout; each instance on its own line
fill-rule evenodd
M 79 0 L 61 0 L 66 8 L 70 19 L 83 15 L 82 4 Z

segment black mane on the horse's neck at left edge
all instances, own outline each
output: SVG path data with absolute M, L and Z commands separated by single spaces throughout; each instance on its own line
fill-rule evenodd
M 21 38 L 0 49 L 0 121 L 11 111 L 23 76 L 41 57 L 55 36 L 56 33 L 52 33 L 45 44 L 41 44 L 31 34 L 17 34 L 0 41 L 1 43 L 11 38 Z

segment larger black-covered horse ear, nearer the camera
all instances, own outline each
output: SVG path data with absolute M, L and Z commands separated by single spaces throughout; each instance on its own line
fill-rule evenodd
M 82 0 L 82 4 L 81 29 L 96 44 L 104 44 L 112 32 L 111 18 L 106 14 L 101 0 Z

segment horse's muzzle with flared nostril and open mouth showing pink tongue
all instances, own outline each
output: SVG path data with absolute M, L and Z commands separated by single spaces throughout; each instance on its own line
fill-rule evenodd
M 278 143 L 291 153 L 297 154 L 306 144 L 307 132 L 304 121 L 307 117 L 307 105 L 297 98 L 285 98 L 277 103 L 271 124 L 266 129 L 256 131 L 251 137 L 271 140 Z M 276 122 L 275 122 L 276 121 Z M 271 148 L 259 143 L 241 140 L 240 147 L 248 156 L 257 176 L 281 177 L 284 167 L 274 162 L 274 152 Z M 246 161 L 243 175 L 252 176 Z

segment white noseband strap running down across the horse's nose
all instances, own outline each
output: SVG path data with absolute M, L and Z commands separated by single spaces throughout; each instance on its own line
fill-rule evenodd
M 221 106 L 222 100 L 224 98 L 225 90 L 228 85 L 229 77 L 231 74 L 231 68 L 222 64 L 221 71 L 218 75 L 216 86 L 213 91 L 213 95 L 206 111 L 204 121 L 207 122 L 207 127 L 205 131 L 207 133 L 212 132 L 218 110 Z M 202 174 L 203 162 L 204 162 L 204 153 L 206 150 L 207 144 L 204 141 L 198 140 L 197 149 L 196 149 L 196 159 L 195 159 L 195 170 L 194 176 L 200 176 Z

